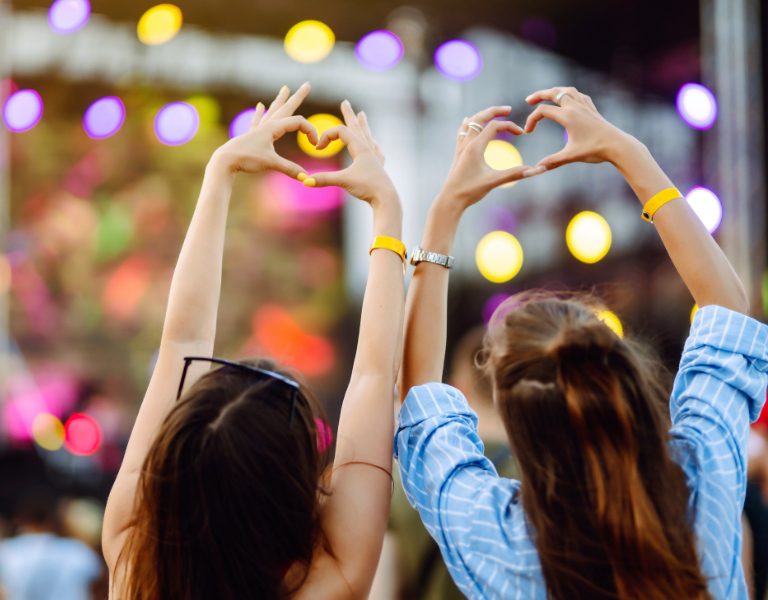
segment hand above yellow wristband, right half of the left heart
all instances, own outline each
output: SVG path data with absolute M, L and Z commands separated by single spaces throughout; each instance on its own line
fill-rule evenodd
M 355 114 L 349 100 L 341 103 L 344 125 L 327 130 L 320 137 L 317 149 L 322 150 L 334 140 L 347 145 L 352 164 L 341 171 L 314 173 L 304 180 L 308 187 L 336 185 L 353 196 L 371 204 L 384 197 L 396 197 L 392 181 L 384 170 L 384 155 L 373 139 L 364 112 Z

